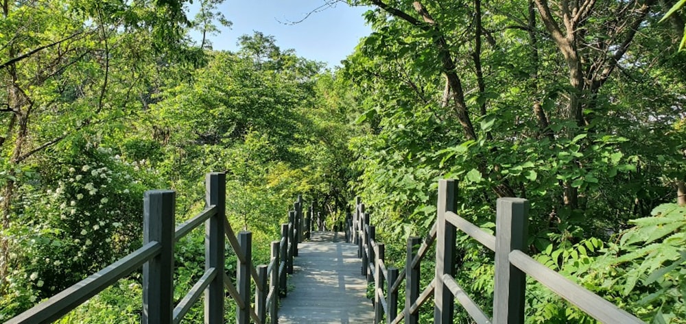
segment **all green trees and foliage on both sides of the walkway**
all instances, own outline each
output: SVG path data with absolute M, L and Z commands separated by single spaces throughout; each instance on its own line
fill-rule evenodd
M 303 194 L 328 223 L 361 195 L 401 264 L 453 177 L 465 218 L 493 231 L 495 199 L 525 197 L 530 254 L 641 319 L 685 323 L 683 0 L 348 1 L 370 5 L 373 33 L 335 71 L 260 32 L 213 51 L 220 0 L 193 19 L 185 1 L 0 2 L 0 321 L 139 247 L 145 190 L 176 190 L 184 221 L 204 173 L 226 171 L 258 263 Z M 202 240 L 178 242 L 176 299 Z M 493 256 L 466 237 L 458 251 L 489 312 Z M 138 323 L 140 279 L 60 323 Z M 530 323 L 593 323 L 529 288 Z

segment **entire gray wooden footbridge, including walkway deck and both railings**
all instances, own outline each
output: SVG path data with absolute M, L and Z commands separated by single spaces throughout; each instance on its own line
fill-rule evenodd
M 178 225 L 174 220 L 175 192 L 146 192 L 143 247 L 5 324 L 57 321 L 141 267 L 143 324 L 181 323 L 202 295 L 205 324 L 234 321 L 239 324 L 401 321 L 417 324 L 421 306 L 431 299 L 434 323 L 453 323 L 454 312 L 463 310 L 474 323 L 523 324 L 527 276 L 601 323 L 643 323 L 525 253 L 529 209 L 525 199 L 498 199 L 497 235 L 493 236 L 457 214 L 457 184 L 453 180 L 440 180 L 436 223 L 426 238 L 407 238 L 405 262 L 397 269 L 386 266 L 383 242 L 377 242 L 370 214 L 365 212 L 359 198 L 354 212 L 346 218 L 345 232 L 311 232 L 314 210 L 310 207 L 304 213 L 302 197 L 298 197 L 288 213 L 288 223 L 281 225 L 281 240 L 270 245 L 269 264 L 255 266 L 252 264 L 252 234 L 240 232 L 236 235 L 226 220 L 225 185 L 224 173 L 208 174 L 205 210 Z M 174 245 L 203 224 L 204 275 L 185 297 L 174 301 Z M 319 228 L 322 229 L 321 223 Z M 460 235 L 470 236 L 485 249 L 495 252 L 492 316 L 483 312 L 456 282 L 458 229 Z M 226 245 L 238 258 L 235 273 L 227 273 L 224 269 Z M 429 278 L 430 284 L 422 288 L 421 262 L 434 245 L 434 271 L 430 271 L 434 275 Z M 404 286 L 404 296 L 400 295 L 401 286 Z M 368 291 L 371 300 L 366 297 Z M 236 303 L 235 320 L 224 318 L 227 296 Z

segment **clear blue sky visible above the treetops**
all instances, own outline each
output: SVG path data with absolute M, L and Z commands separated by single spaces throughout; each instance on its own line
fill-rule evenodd
M 198 1 L 196 2 L 196 5 Z M 340 65 L 340 60 L 353 53 L 359 39 L 368 36 L 370 27 L 362 14 L 368 8 L 355 8 L 345 3 L 314 12 L 296 24 L 325 0 L 226 0 L 220 10 L 233 22 L 230 29 L 212 36 L 213 49 L 235 51 L 237 38 L 253 31 L 276 38 L 281 49 L 295 49 L 298 56 L 327 62 L 329 67 Z M 191 6 L 192 18 L 197 12 Z

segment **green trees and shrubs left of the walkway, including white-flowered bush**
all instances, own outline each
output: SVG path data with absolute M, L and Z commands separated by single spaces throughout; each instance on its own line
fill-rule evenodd
M 2 2 L 0 321 L 140 247 L 145 190 L 176 190 L 185 221 L 203 207 L 204 174 L 225 171 L 228 218 L 253 232 L 256 263 L 297 194 L 344 206 L 353 131 L 326 97 L 333 76 L 259 32 L 213 51 L 206 36 L 230 24 L 220 3 L 189 20 L 172 2 Z M 176 246 L 176 299 L 202 275 L 203 239 Z M 138 323 L 140 280 L 60 323 Z M 202 321 L 202 305 L 186 319 Z

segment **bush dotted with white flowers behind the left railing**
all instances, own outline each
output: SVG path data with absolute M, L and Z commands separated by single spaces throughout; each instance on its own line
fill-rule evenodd
M 154 172 L 111 149 L 84 144 L 73 152 L 23 187 L 10 236 L 18 251 L 12 263 L 21 266 L 8 278 L 14 293 L 0 309 L 31 306 L 141 245 L 143 192 L 156 187 Z

